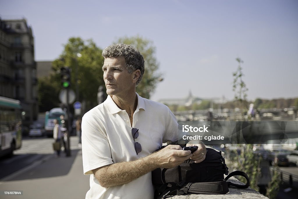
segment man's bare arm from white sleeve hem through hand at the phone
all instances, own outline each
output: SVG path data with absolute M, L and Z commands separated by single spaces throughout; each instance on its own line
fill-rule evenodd
M 94 169 L 92 172 L 102 187 L 126 184 L 156 168 L 173 168 L 178 166 L 193 156 L 190 151 L 181 149 L 179 145 L 169 145 L 144 158 L 110 164 Z

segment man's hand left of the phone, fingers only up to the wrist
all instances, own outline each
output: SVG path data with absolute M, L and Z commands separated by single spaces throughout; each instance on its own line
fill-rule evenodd
M 183 151 L 181 149 L 179 145 L 169 145 L 152 155 L 155 156 L 154 158 L 159 165 L 158 167 L 173 168 L 193 157 L 193 154 L 189 150 Z

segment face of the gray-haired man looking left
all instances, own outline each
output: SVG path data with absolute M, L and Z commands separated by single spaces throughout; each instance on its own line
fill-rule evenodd
M 128 90 L 135 87 L 133 84 L 133 74 L 129 74 L 126 69 L 124 57 L 105 58 L 103 63 L 103 80 L 108 95 L 125 95 Z

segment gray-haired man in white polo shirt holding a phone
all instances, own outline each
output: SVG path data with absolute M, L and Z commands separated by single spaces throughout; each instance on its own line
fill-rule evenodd
M 189 158 L 201 162 L 206 148 L 188 144 L 198 146 L 191 154 L 172 145 L 155 152 L 182 134 L 167 106 L 136 93 L 145 70 L 143 56 L 125 44 L 106 47 L 102 54 L 108 98 L 82 120 L 83 168 L 91 175 L 86 198 L 153 198 L 152 170 Z

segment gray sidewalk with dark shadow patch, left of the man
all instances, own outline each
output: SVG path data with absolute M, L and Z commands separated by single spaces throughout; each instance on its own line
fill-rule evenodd
M 82 150 L 77 137 L 71 137 L 71 157 L 51 155 L 40 164 L 0 184 L 3 191 L 23 191 L 23 195 L 0 198 L 85 198 L 89 176 L 83 175 Z

